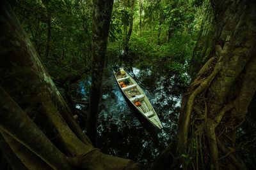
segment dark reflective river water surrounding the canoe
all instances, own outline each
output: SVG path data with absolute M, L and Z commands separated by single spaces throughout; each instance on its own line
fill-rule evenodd
M 138 118 L 122 96 L 111 70 L 105 71 L 102 99 L 99 106 L 98 148 L 103 153 L 132 159 L 144 166 L 154 162 L 157 155 L 176 134 L 182 88 L 175 76 L 161 76 L 150 70 L 128 72 L 147 95 L 163 124 L 154 128 Z M 90 81 L 89 81 L 90 83 Z M 80 85 L 83 87 L 83 83 Z M 82 88 L 82 93 L 86 94 Z

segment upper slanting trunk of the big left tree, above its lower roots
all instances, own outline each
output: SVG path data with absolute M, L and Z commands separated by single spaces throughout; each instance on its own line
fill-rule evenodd
M 21 25 L 17 24 L 19 22 L 15 15 L 13 14 L 12 18 L 9 18 L 9 16 L 11 15 L 3 13 L 3 18 L 6 18 L 6 20 L 3 20 L 3 24 L 1 24 L 1 48 L 5 49 L 1 50 L 0 69 L 3 89 L 10 89 L 8 94 L 49 138 L 53 138 L 54 142 L 61 143 L 62 150 L 70 155 L 73 154 L 72 152 L 79 153 L 80 149 L 75 149 L 77 146 L 70 143 L 73 139 L 79 142 L 79 139 L 74 136 L 67 125 L 62 126 L 65 122 L 63 120 L 65 116 L 61 117 L 60 115 L 60 112 L 65 114 L 68 111 L 67 114 L 70 115 L 70 120 L 74 120 L 72 113 L 67 109 L 67 104 L 64 104 L 60 92 L 58 92 L 45 67 L 40 62 L 26 33 Z M 6 30 L 10 31 L 12 29 L 16 31 L 6 33 Z M 17 77 L 19 80 L 13 81 Z M 22 96 L 20 96 L 20 93 Z M 31 102 L 34 106 L 31 106 Z M 42 114 L 38 114 L 38 112 Z M 42 122 L 42 120 L 48 120 L 49 124 Z M 71 124 L 76 126 L 74 125 L 76 124 L 75 120 Z M 78 125 L 77 127 L 79 128 Z M 51 130 L 49 131 L 49 129 Z M 56 136 L 58 137 L 56 138 Z

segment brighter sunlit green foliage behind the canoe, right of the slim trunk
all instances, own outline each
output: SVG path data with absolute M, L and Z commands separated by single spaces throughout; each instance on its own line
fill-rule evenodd
M 110 40 L 115 34 L 115 41 L 108 45 L 111 62 L 121 60 L 126 66 L 132 63 L 132 66 L 141 69 L 161 71 L 163 75 L 179 74 L 180 85 L 188 85 L 190 79 L 187 72 L 200 29 L 200 21 L 196 20 L 200 8 L 195 10 L 193 2 L 182 1 L 140 1 L 135 4 L 127 59 L 122 57 L 125 56 L 124 41 L 131 22 L 131 7 L 123 1 L 114 4 L 112 25 L 118 27 L 118 31 L 113 29 L 110 32 Z

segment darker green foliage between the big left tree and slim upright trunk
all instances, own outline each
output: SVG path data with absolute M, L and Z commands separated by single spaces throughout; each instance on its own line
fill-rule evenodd
M 49 3 L 48 5 L 46 5 Z M 13 9 L 54 78 L 90 66 L 92 2 L 15 1 Z M 51 13 L 50 52 L 45 56 Z

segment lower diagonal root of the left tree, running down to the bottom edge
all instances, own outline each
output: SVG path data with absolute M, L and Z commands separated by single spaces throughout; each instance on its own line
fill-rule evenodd
M 67 157 L 51 143 L 49 138 L 40 131 L 36 124 L 1 87 L 0 94 L 0 129 L 13 136 L 54 169 L 58 167 L 71 169 L 67 164 Z

